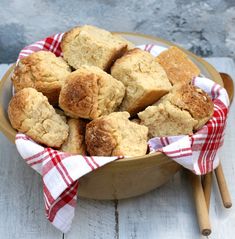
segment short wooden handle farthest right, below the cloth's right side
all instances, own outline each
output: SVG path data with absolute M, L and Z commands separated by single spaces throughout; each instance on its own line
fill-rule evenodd
M 230 193 L 228 191 L 227 183 L 224 177 L 224 172 L 221 163 L 219 166 L 215 169 L 215 175 L 217 179 L 217 183 L 220 190 L 220 195 L 224 204 L 225 208 L 232 207 L 232 200 L 230 197 Z

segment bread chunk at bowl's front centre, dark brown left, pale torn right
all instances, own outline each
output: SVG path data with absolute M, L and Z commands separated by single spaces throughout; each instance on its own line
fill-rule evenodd
M 114 112 L 87 124 L 86 145 L 90 155 L 145 155 L 148 129 L 131 122 L 129 116 L 128 112 Z

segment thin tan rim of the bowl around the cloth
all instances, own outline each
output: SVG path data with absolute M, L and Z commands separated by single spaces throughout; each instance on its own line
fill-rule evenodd
M 223 80 L 222 80 L 220 74 L 216 71 L 216 69 L 212 65 L 210 65 L 207 61 L 203 60 L 201 57 L 198 57 L 195 54 L 181 48 L 177 44 L 174 44 L 170 41 L 167 41 L 167 40 L 159 38 L 159 37 L 154 37 L 154 36 L 142 34 L 142 33 L 133 33 L 133 32 L 113 32 L 113 33 L 118 34 L 118 35 L 124 34 L 124 35 L 136 36 L 136 37 L 139 36 L 139 37 L 147 38 L 150 40 L 163 42 L 169 46 L 177 46 L 182 51 L 184 51 L 187 55 L 191 56 L 195 61 L 201 63 L 207 69 L 207 71 L 211 74 L 212 80 L 216 81 L 217 83 L 219 83 L 220 85 L 223 86 Z M 10 68 L 7 70 L 7 72 L 2 77 L 2 80 L 0 81 L 0 93 L 3 90 L 3 86 L 4 86 L 5 82 L 8 80 L 10 74 L 13 72 L 15 65 L 16 64 L 13 64 L 12 66 L 10 66 Z M 4 133 L 5 136 L 7 136 L 7 138 L 11 142 L 15 141 L 16 131 L 11 127 L 9 120 L 4 117 L 4 110 L 3 110 L 2 105 L 0 105 L 0 130 Z M 130 163 L 130 162 L 136 163 L 136 162 L 140 161 L 141 159 L 148 160 L 148 162 L 150 162 L 152 160 L 156 160 L 157 156 L 163 156 L 163 153 L 155 152 L 155 153 L 151 153 L 151 154 L 146 154 L 144 156 L 123 158 L 123 159 L 113 161 L 112 163 L 109 164 L 109 166 L 112 165 L 112 166 L 116 167 L 117 165 L 120 165 L 120 163 L 121 164 Z M 170 159 L 167 157 L 166 157 L 166 159 L 168 159 L 168 160 L 165 160 L 164 162 L 162 162 L 163 164 L 169 163 Z

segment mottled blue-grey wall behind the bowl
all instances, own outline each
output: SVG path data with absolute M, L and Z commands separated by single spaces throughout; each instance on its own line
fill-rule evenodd
M 0 0 L 0 63 L 78 24 L 151 34 L 201 56 L 235 58 L 235 0 Z

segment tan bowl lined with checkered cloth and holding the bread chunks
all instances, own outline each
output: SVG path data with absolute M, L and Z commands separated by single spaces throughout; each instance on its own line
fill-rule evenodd
M 164 47 L 175 45 L 160 38 L 143 34 L 115 33 L 136 45 L 156 44 Z M 219 73 L 206 61 L 182 49 L 200 68 L 201 73 L 223 85 Z M 11 127 L 7 107 L 12 97 L 10 75 L 14 65 L 3 76 L 0 83 L 0 130 L 14 142 L 16 131 Z M 78 194 L 92 199 L 123 199 L 141 195 L 166 183 L 181 169 L 177 163 L 162 153 L 142 157 L 131 157 L 112 162 L 80 179 Z

